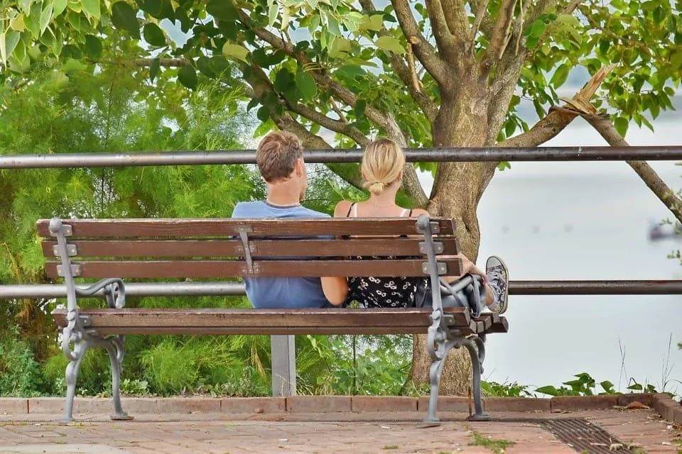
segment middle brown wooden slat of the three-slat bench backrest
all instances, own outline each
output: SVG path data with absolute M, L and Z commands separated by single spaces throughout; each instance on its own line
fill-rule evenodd
M 372 239 L 296 239 L 296 240 L 251 240 L 249 248 L 254 257 L 336 257 L 361 255 L 379 257 L 394 255 L 419 256 L 417 238 L 372 238 Z M 295 243 L 292 243 L 295 242 Z M 443 254 L 457 255 L 459 243 L 456 238 L 439 238 L 443 243 Z M 45 240 L 43 254 L 53 258 L 53 246 L 57 242 Z M 171 258 L 171 257 L 234 257 L 244 255 L 241 240 L 75 240 L 78 257 L 117 258 Z M 292 252 L 294 251 L 295 254 Z

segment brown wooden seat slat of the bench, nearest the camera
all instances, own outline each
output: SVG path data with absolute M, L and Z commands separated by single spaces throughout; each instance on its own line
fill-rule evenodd
M 453 328 L 476 332 L 462 308 L 452 314 Z M 82 309 L 99 334 L 385 334 L 424 333 L 430 309 Z M 66 311 L 53 311 L 58 326 Z

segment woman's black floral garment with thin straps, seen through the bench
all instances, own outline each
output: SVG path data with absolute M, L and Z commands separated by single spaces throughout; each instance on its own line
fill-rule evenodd
M 408 214 L 408 210 L 403 212 Z M 412 210 L 409 210 L 408 217 Z M 346 217 L 357 217 L 357 206 L 352 204 Z M 357 260 L 372 260 L 379 257 L 357 257 Z M 347 301 L 357 301 L 360 306 L 369 308 L 381 307 L 414 307 L 417 286 L 423 285 L 422 277 L 351 277 L 348 279 Z

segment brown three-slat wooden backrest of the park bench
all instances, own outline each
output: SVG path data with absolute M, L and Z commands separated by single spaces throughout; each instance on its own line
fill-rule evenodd
M 410 218 L 65 219 L 75 277 L 125 279 L 428 276 L 424 238 Z M 439 255 L 459 253 L 452 219 L 432 218 Z M 50 232 L 38 221 L 45 272 L 63 275 Z M 348 238 L 352 236 L 352 238 Z M 374 260 L 362 260 L 371 258 Z M 460 275 L 459 259 L 438 260 Z

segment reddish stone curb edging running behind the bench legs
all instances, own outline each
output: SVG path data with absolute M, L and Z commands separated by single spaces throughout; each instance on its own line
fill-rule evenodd
M 428 397 L 399 396 L 293 396 L 293 397 L 124 397 L 123 408 L 130 414 L 192 414 L 192 413 L 335 413 L 426 411 Z M 682 424 L 682 405 L 668 394 L 611 394 L 604 396 L 562 396 L 552 398 L 487 397 L 483 406 L 495 411 L 578 411 L 611 409 L 640 402 L 655 409 L 667 421 Z M 466 397 L 438 398 L 439 411 L 470 411 Z M 3 414 L 60 414 L 63 397 L 0 398 Z M 76 414 L 109 413 L 112 401 L 107 398 L 82 397 L 74 404 Z

